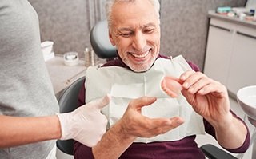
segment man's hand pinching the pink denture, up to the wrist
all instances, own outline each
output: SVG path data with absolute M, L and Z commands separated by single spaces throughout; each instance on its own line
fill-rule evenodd
M 196 113 L 207 121 L 226 121 L 230 116 L 230 101 L 226 87 L 201 72 L 186 71 L 181 75 L 182 94 Z

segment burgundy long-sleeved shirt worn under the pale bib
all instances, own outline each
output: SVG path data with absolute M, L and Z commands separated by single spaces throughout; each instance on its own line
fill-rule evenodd
M 158 58 L 168 58 L 166 56 L 158 55 Z M 188 62 L 191 66 L 191 68 L 195 71 L 200 71 L 198 69 L 198 66 L 196 66 L 192 62 Z M 126 64 L 118 59 L 114 59 L 113 61 L 110 61 L 106 63 L 103 66 L 121 66 L 125 67 L 130 70 Z M 82 89 L 79 93 L 79 99 L 78 99 L 78 106 L 85 104 L 85 89 L 84 86 L 82 86 Z M 239 118 L 234 112 L 230 110 L 230 112 L 234 115 L 234 117 L 237 117 L 239 120 L 242 121 L 241 118 Z M 244 121 L 242 121 L 244 123 Z M 205 119 L 203 119 L 203 123 L 205 126 L 206 133 L 209 133 L 215 138 L 215 130 L 212 125 Z M 244 123 L 245 124 L 245 123 Z M 246 125 L 246 124 L 245 124 Z M 230 151 L 231 153 L 244 153 L 248 149 L 250 145 L 250 133 L 247 129 L 247 135 L 246 135 L 246 141 L 244 141 L 243 145 L 239 147 L 238 149 L 226 149 Z M 128 159 L 183 159 L 183 158 L 195 158 L 195 159 L 204 159 L 205 156 L 202 153 L 202 150 L 198 148 L 197 143 L 195 140 L 195 135 L 190 137 L 185 137 L 179 141 L 162 141 L 162 142 L 151 142 L 151 143 L 133 143 L 130 145 L 128 149 L 124 153 L 122 153 L 121 157 L 119 158 L 128 158 Z M 111 151 L 111 149 L 110 149 Z M 74 158 L 76 159 L 94 159 L 92 150 L 90 147 L 87 147 L 86 145 L 82 145 L 78 141 L 74 141 Z

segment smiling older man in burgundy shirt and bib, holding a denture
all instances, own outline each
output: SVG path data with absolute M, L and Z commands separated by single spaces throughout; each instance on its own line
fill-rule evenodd
M 158 0 L 106 0 L 106 13 L 118 59 L 87 70 L 80 100 L 110 93 L 112 101 L 102 110 L 109 126 L 93 148 L 75 142 L 75 158 L 200 159 L 205 157 L 194 139 L 205 132 L 230 152 L 248 149 L 250 133 L 230 111 L 226 87 L 182 56 L 159 54 Z M 170 75 L 182 85 L 175 98 L 160 86 Z

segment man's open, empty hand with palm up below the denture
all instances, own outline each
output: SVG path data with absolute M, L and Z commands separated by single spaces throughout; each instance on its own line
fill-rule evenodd
M 126 112 L 118 121 L 122 126 L 122 133 L 130 137 L 155 137 L 184 123 L 182 117 L 151 119 L 142 116 L 142 107 L 151 105 L 156 100 L 156 97 L 139 97 L 130 101 Z

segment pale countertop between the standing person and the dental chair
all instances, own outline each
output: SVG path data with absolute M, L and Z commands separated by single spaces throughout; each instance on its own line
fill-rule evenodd
M 84 60 L 79 60 L 77 66 L 66 66 L 62 55 L 55 55 L 54 58 L 47 60 L 46 67 L 57 98 L 71 83 L 85 76 L 87 69 Z

